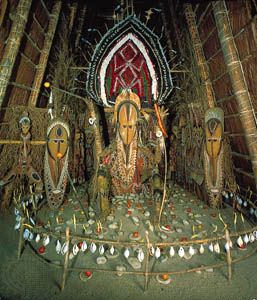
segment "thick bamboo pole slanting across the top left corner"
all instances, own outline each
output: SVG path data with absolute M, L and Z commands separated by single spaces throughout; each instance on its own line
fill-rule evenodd
M 20 0 L 16 8 L 15 19 L 0 64 L 0 107 L 3 104 L 8 82 L 12 75 L 23 32 L 28 20 L 31 3 L 32 0 Z

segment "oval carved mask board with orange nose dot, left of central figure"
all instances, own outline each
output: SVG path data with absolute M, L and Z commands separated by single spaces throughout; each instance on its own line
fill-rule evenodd
M 44 181 L 48 205 L 58 208 L 63 201 L 68 180 L 70 130 L 59 119 L 53 119 L 47 128 L 44 162 Z

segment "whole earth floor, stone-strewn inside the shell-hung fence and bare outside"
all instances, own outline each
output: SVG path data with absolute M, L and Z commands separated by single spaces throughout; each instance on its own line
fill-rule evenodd
M 40 220 L 41 226 L 36 226 L 33 237 L 26 242 L 19 260 L 19 231 L 14 230 L 13 208 L 0 216 L 0 299 L 257 299 L 256 241 L 249 242 L 243 251 L 236 245 L 238 237 L 231 238 L 232 258 L 243 258 L 255 253 L 232 265 L 230 282 L 227 279 L 226 265 L 217 269 L 210 267 L 201 272 L 170 275 L 171 280 L 167 285 L 161 284 L 157 275 L 149 276 L 146 290 L 144 275 L 138 275 L 145 271 L 146 230 L 155 250 L 148 261 L 149 272 L 166 274 L 225 263 L 224 240 L 219 241 L 220 251 L 216 252 L 210 251 L 210 243 L 203 242 L 203 254 L 200 254 L 200 244 L 183 245 L 183 241 L 222 237 L 223 222 L 228 224 L 231 233 L 249 228 L 250 224 L 241 219 L 240 214 L 236 225 L 234 224 L 231 207 L 212 210 L 192 194 L 174 185 L 168 191 L 160 226 L 156 224 L 152 199 L 133 195 L 111 199 L 111 214 L 106 221 L 99 223 L 94 209 L 88 210 L 88 204 L 83 200 L 84 195 L 83 188 L 79 188 L 78 195 L 68 195 L 64 205 L 55 212 L 45 205 L 36 220 L 37 223 Z M 89 211 L 88 218 L 81 210 L 78 197 L 86 213 Z M 67 226 L 73 236 L 69 247 L 69 267 L 76 270 L 68 272 L 65 288 L 61 292 L 63 269 L 60 265 L 63 265 L 65 255 L 56 253 L 56 245 L 57 240 L 61 245 L 64 244 Z M 35 232 L 40 233 L 40 240 L 37 242 Z M 39 249 L 42 249 L 49 235 L 47 232 L 60 234 L 62 237 L 50 236 L 44 254 L 39 254 Z M 87 241 L 88 247 L 84 252 L 80 250 L 76 254 L 78 249 L 75 245 L 81 245 L 83 240 Z M 114 244 L 111 244 L 112 241 Z M 96 246 L 94 253 L 90 251 L 92 242 Z M 169 254 L 169 243 L 175 243 L 173 257 Z M 102 252 L 101 245 L 104 246 L 101 248 Z M 114 254 L 111 254 L 111 245 L 114 246 Z M 185 251 L 182 258 L 178 255 L 181 246 Z M 193 256 L 189 254 L 190 246 L 194 249 Z M 157 247 L 161 250 L 160 257 L 155 256 Z M 129 250 L 129 258 L 124 256 L 126 248 Z M 139 249 L 144 253 L 140 264 Z M 131 258 L 134 259 L 134 264 L 129 261 Z M 99 265 L 99 261 L 103 264 Z M 117 266 L 122 266 L 130 274 L 117 276 Z M 112 273 L 105 270 L 111 270 Z M 85 277 L 85 271 L 92 273 L 91 278 Z

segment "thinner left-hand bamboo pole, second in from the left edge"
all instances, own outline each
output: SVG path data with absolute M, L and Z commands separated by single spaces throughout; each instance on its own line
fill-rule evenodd
M 45 69 L 46 69 L 49 53 L 51 50 L 53 38 L 55 35 L 55 31 L 56 31 L 56 26 L 57 26 L 60 11 L 61 11 L 61 5 L 62 5 L 61 1 L 56 2 L 54 4 L 52 13 L 50 15 L 48 31 L 47 31 L 47 34 L 45 35 L 43 49 L 40 54 L 37 71 L 36 71 L 36 74 L 34 77 L 32 92 L 30 93 L 30 97 L 29 97 L 29 105 L 30 106 L 36 106 L 36 103 L 37 103 L 40 87 L 41 87 L 43 77 L 45 74 Z

